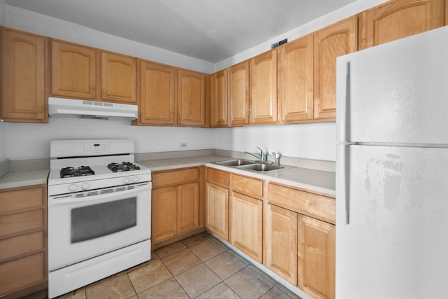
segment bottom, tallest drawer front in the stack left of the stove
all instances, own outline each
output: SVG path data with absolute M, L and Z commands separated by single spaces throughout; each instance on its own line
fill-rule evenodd
M 0 264 L 0 297 L 45 281 L 43 253 Z

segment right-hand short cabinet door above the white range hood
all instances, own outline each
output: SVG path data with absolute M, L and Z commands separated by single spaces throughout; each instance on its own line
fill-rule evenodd
M 101 53 L 102 99 L 137 104 L 137 62 L 133 57 Z

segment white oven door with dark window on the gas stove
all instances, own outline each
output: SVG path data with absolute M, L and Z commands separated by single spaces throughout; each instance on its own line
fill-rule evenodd
M 151 183 L 48 202 L 50 271 L 151 239 Z

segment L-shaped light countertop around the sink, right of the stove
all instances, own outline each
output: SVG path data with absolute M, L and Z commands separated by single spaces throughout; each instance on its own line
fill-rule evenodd
M 310 191 L 323 193 L 325 195 L 336 195 L 336 181 L 334 172 L 325 172 L 315 169 L 282 165 L 285 166 L 284 169 L 279 169 L 273 172 L 262 174 L 259 172 L 252 172 L 249 170 L 237 169 L 235 167 L 216 165 L 213 163 L 216 161 L 233 159 L 235 158 L 222 157 L 218 155 L 206 155 L 200 157 L 143 160 L 137 162 L 139 162 L 141 165 L 151 168 L 152 172 L 204 165 L 207 167 L 221 169 L 226 172 L 234 172 L 246 176 L 253 176 L 258 179 L 265 179 L 268 181 L 282 183 L 297 188 L 303 188 Z

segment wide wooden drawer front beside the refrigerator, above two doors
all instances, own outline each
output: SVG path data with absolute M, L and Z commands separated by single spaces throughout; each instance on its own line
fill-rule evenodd
M 269 183 L 267 185 L 267 201 L 299 214 L 335 223 L 336 202 L 332 197 Z

